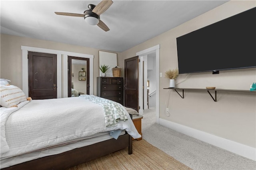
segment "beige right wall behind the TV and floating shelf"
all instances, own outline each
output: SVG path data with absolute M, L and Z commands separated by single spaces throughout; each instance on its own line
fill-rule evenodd
M 160 44 L 160 72 L 178 68 L 176 37 L 223 20 L 255 6 L 255 1 L 229 1 L 197 18 L 154 37 L 136 47 L 124 51 L 123 59 Z M 242 56 L 241 56 L 242 58 Z M 123 63 L 122 63 L 123 64 Z M 191 63 L 192 64 L 192 63 Z M 123 64 L 124 65 L 124 64 Z M 123 67 L 122 65 L 122 67 Z M 188 74 L 180 74 L 176 82 L 184 80 Z M 256 68 L 192 73 L 188 80 L 178 84 L 180 88 L 205 88 L 216 86 L 222 89 L 249 90 L 256 82 Z M 160 77 L 160 118 L 179 123 L 224 139 L 229 139 L 250 147 L 256 147 L 256 95 L 253 92 L 224 91 L 217 93 L 214 102 L 206 91 L 186 91 L 184 99 L 168 88 L 169 80 Z M 166 100 L 169 103 L 165 105 Z M 169 108 L 170 117 L 164 114 Z

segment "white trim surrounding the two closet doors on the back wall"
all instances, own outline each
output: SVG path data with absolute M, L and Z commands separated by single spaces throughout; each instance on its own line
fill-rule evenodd
M 60 51 L 53 49 L 43 49 L 38 47 L 21 46 L 22 50 L 22 90 L 28 97 L 28 51 L 39 53 L 50 53 L 57 55 L 57 98 L 68 97 L 68 56 L 90 59 L 90 77 L 93 77 L 94 55 Z M 64 74 L 64 73 L 67 74 Z M 90 94 L 93 94 L 93 80 L 90 81 Z

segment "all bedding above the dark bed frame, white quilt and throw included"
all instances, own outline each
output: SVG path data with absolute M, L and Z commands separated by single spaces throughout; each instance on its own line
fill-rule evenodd
M 17 106 L 1 107 L 1 168 L 124 133 L 141 137 L 122 105 L 93 95 L 23 101 Z

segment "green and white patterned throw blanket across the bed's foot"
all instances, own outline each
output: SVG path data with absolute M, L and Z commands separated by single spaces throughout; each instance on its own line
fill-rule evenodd
M 114 127 L 119 120 L 126 121 L 128 119 L 124 111 L 124 107 L 117 102 L 94 95 L 81 95 L 80 97 L 103 107 L 106 127 Z

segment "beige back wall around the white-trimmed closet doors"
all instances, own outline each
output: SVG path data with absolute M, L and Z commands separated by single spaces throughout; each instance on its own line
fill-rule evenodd
M 99 50 L 88 47 L 57 43 L 52 41 L 44 41 L 39 39 L 31 39 L 27 37 L 18 37 L 13 35 L 1 34 L 1 58 L 0 58 L 0 77 L 11 80 L 11 84 L 22 88 L 22 50 L 21 46 L 38 47 L 44 49 L 54 49 L 60 51 L 69 51 L 74 53 L 82 53 L 94 55 L 94 74 L 93 80 L 96 84 L 96 77 L 99 76 Z M 112 51 L 107 51 L 112 52 Z M 116 52 L 114 52 L 116 53 Z M 118 58 L 118 64 L 121 60 Z M 119 66 L 119 65 L 118 65 Z M 59 75 L 58 75 L 59 76 Z M 60 75 L 61 76 L 61 75 Z M 94 95 L 96 95 L 96 86 L 94 87 Z

